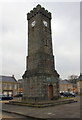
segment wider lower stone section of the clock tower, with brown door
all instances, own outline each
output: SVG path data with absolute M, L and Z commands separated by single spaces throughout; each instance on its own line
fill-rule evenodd
M 44 101 L 59 98 L 58 74 L 27 74 L 23 79 L 23 101 Z

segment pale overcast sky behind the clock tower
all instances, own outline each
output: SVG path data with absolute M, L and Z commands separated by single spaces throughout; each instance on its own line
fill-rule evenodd
M 2 75 L 20 79 L 26 70 L 27 16 L 37 4 L 52 13 L 52 42 L 55 68 L 62 79 L 80 73 L 79 2 L 4 2 L 1 10 Z

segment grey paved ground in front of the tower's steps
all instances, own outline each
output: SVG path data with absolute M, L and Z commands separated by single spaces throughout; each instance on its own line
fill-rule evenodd
M 80 118 L 80 98 L 78 102 L 45 108 L 34 108 L 2 103 L 2 110 L 34 118 Z

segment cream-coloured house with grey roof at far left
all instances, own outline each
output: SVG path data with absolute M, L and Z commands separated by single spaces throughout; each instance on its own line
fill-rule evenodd
M 15 96 L 18 93 L 17 80 L 13 76 L 0 76 L 0 86 L 2 94 L 7 96 Z

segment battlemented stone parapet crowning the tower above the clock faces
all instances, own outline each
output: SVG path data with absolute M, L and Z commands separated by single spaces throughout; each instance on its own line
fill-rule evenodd
M 30 13 L 27 14 L 27 20 L 30 20 L 32 17 L 34 17 L 38 13 L 51 19 L 51 13 L 48 12 L 48 10 L 45 10 L 44 7 L 41 7 L 40 4 L 38 4 L 35 8 L 33 8 L 33 10 L 30 11 Z

